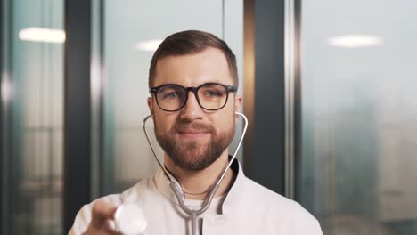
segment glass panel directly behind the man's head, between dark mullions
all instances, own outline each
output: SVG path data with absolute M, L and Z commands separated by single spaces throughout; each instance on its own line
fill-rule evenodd
M 234 5 L 233 5 L 234 4 Z M 242 5 L 230 1 L 233 28 L 226 41 L 241 71 Z M 186 29 L 222 37 L 224 3 L 216 1 L 104 1 L 104 169 L 102 194 L 120 192 L 152 174 L 156 161 L 145 140 L 142 120 L 150 114 L 146 99 L 151 56 L 159 40 Z M 237 32 L 237 33 L 236 33 Z M 153 128 L 148 126 L 150 133 Z M 154 145 L 158 145 L 156 141 Z M 161 157 L 159 152 L 159 157 Z

